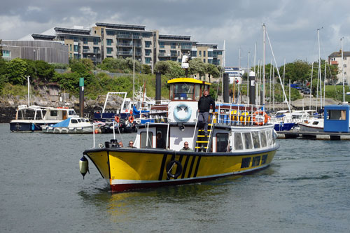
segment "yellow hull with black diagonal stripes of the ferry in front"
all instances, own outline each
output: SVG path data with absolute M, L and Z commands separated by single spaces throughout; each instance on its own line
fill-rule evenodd
M 254 153 L 186 153 L 174 150 L 85 150 L 113 192 L 196 183 L 251 173 L 269 166 L 279 146 Z

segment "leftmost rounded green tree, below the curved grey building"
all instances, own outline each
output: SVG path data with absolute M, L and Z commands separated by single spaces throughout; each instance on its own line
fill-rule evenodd
M 15 58 L 8 62 L 7 66 L 8 81 L 14 85 L 23 85 L 27 78 L 28 64 L 20 58 Z

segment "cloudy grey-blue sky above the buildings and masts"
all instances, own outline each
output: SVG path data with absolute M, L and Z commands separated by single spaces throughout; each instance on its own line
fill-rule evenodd
M 189 35 L 200 43 L 225 41 L 226 66 L 262 60 L 262 24 L 278 66 L 283 60 L 318 59 L 350 48 L 350 1 L 325 0 L 10 0 L 0 4 L 0 38 L 16 40 L 52 27 L 91 27 L 95 22 L 140 24 L 160 34 Z M 267 41 L 267 39 L 266 39 Z M 239 59 L 239 48 L 241 58 Z M 266 62 L 272 60 L 266 43 Z M 274 62 L 273 62 L 274 63 Z

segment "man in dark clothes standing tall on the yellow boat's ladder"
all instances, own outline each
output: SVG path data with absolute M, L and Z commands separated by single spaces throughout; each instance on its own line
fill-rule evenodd
M 209 91 L 205 90 L 204 95 L 200 97 L 198 101 L 198 122 L 202 125 L 200 128 L 204 128 L 204 134 L 208 136 L 208 118 L 210 106 L 213 107 L 213 113 L 215 113 L 215 101 L 209 95 Z

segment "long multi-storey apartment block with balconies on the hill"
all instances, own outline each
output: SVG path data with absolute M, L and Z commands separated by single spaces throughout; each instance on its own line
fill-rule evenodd
M 154 66 L 156 62 L 181 62 L 182 55 L 199 57 L 204 63 L 221 65 L 223 50 L 217 44 L 197 43 L 191 36 L 159 34 L 146 30 L 144 25 L 111 24 L 97 22 L 84 29 L 54 27 L 45 34 L 31 34 L 34 41 L 56 41 L 68 48 L 71 59 L 88 58 L 94 64 L 106 57 L 135 57 L 142 64 Z

